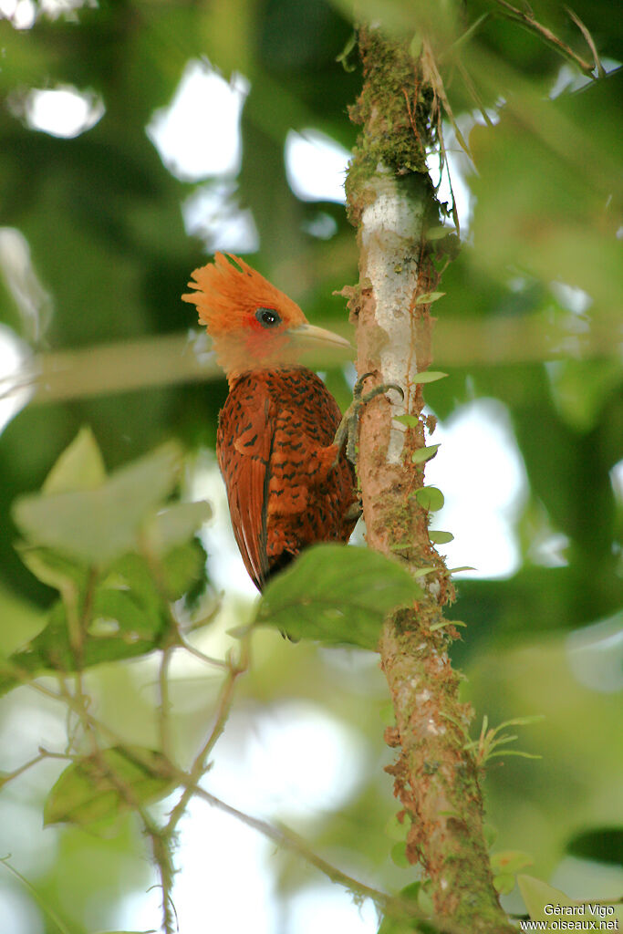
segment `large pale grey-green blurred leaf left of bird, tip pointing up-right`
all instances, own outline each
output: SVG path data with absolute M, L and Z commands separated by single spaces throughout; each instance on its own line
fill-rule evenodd
M 150 513 L 177 479 L 180 451 L 163 445 L 112 474 L 97 488 L 23 496 L 13 517 L 33 545 L 103 565 L 132 550 Z

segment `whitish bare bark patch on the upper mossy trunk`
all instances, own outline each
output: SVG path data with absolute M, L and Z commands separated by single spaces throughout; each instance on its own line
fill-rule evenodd
M 385 382 L 402 387 L 418 373 L 410 307 L 418 286 L 414 245 L 423 235 L 425 209 L 423 201 L 408 197 L 405 187 L 389 174 L 377 175 L 370 186 L 374 201 L 363 209 L 360 228 L 361 255 L 366 263 L 361 281 L 368 278 L 372 283 L 376 323 L 388 338 L 380 350 L 381 372 Z M 398 394 L 390 390 L 388 399 L 392 415 L 403 415 L 405 407 Z M 404 431 L 400 422 L 392 421 L 389 463 L 401 462 Z

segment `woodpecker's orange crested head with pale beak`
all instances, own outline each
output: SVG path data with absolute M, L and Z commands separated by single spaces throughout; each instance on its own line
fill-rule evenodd
M 312 327 L 298 304 L 233 254 L 217 253 L 192 273 L 184 302 L 196 304 L 230 382 L 249 370 L 296 361 L 309 342 L 350 347 L 344 338 Z

